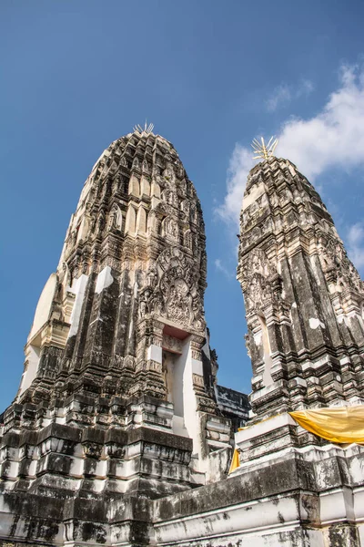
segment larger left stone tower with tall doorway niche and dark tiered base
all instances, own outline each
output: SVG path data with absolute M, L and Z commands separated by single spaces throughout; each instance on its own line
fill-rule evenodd
M 117 139 L 85 182 L 3 417 L 1 490 L 16 537 L 41 526 L 29 537 L 85 542 L 109 507 L 125 537 L 143 535 L 145 508 L 126 497 L 205 482 L 210 452 L 230 439 L 206 273 L 201 207 L 176 150 L 150 128 Z

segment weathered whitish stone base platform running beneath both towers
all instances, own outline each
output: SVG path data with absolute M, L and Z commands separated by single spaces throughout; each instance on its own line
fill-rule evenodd
M 147 457 L 153 439 L 146 432 L 137 435 Z M 86 481 L 66 497 L 58 488 L 58 497 L 46 503 L 40 484 L 37 494 L 30 487 L 24 496 L 17 482 L 3 490 L 0 537 L 6 547 L 364 547 L 364 447 L 319 446 L 318 439 L 317 445 L 306 444 L 307 438 L 298 446 L 299 439 L 304 438 L 288 415 L 261 422 L 238 432 L 240 467 L 228 478 L 217 473 L 215 482 L 170 494 L 156 489 L 153 498 L 150 483 L 149 497 L 140 485 L 138 491 L 120 491 L 118 480 L 98 492 L 97 471 L 89 478 L 93 488 Z M 172 446 L 177 439 L 169 439 L 169 448 L 167 438 L 154 440 L 165 442 L 175 456 L 187 449 L 187 439 L 179 439 L 178 447 Z M 165 481 L 169 464 L 160 454 Z M 227 454 L 228 449 L 213 453 L 217 471 L 219 462 L 226 469 Z M 146 473 L 150 480 L 153 473 Z M 52 480 L 50 473 L 45 476 Z M 144 480 L 143 473 L 137 480 Z

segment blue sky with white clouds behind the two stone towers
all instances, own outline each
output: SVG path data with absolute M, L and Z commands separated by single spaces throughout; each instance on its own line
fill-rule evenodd
M 321 192 L 363 276 L 363 20 L 359 0 L 1 3 L 0 410 L 83 182 L 146 117 L 202 202 L 221 384 L 250 389 L 235 269 L 254 137 L 280 138 L 277 155 Z

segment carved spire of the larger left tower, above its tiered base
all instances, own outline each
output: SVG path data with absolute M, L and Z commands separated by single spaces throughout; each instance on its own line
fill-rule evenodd
M 52 313 L 35 320 L 27 345 L 39 338 L 39 365 L 19 400 L 65 390 L 166 398 L 163 336 L 166 345 L 193 335 L 200 358 L 205 286 L 201 208 L 176 150 L 146 131 L 116 140 L 71 218 L 54 294 L 47 288 Z M 214 408 L 209 397 L 206 405 Z

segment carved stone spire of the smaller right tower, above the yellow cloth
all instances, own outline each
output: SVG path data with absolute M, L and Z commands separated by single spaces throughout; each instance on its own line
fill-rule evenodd
M 318 192 L 288 160 L 249 173 L 238 280 L 258 418 L 364 400 L 363 282 Z

